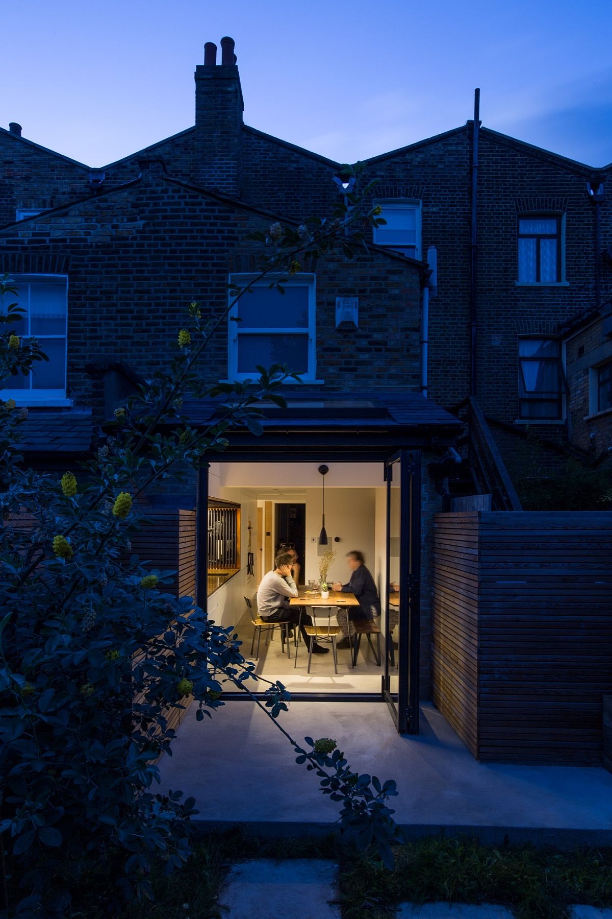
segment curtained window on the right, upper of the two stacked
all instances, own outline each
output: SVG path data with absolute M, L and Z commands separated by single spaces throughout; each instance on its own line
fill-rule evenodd
M 518 218 L 518 283 L 558 284 L 562 281 L 562 217 Z

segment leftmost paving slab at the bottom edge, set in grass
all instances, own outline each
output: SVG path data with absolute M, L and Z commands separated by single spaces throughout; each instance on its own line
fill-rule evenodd
M 323 858 L 273 861 L 258 858 L 235 865 L 219 903 L 228 919 L 340 919 L 338 865 Z

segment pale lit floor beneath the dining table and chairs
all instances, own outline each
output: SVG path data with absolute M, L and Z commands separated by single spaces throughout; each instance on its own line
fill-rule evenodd
M 335 619 L 332 618 L 332 624 Z M 250 653 L 250 644 L 253 638 L 253 624 L 249 611 L 239 620 L 237 632 L 239 641 L 242 641 L 242 653 L 247 660 L 254 661 L 257 653 L 257 639 L 253 654 Z M 308 669 L 308 652 L 304 642 L 300 640 L 297 647 L 297 665 L 295 664 L 295 644 L 290 643 L 291 659 L 287 657 L 286 649 L 283 652 L 280 628 L 270 634 L 270 641 L 265 631 L 261 632 L 259 658 L 256 661 L 255 673 L 261 674 L 266 680 L 274 682 L 280 680 L 290 692 L 312 693 L 377 693 L 381 692 L 381 676 L 383 667 L 376 664 L 372 649 L 363 638 L 357 664 L 351 666 L 351 650 L 348 648 L 338 651 L 338 673 L 334 673 L 334 660 L 329 644 L 328 654 L 313 654 L 310 673 Z M 382 636 L 381 645 L 383 646 Z M 383 652 L 383 647 L 381 648 Z M 261 691 L 265 686 L 261 687 Z

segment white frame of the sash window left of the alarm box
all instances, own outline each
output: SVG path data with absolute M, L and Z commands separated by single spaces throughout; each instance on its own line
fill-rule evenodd
M 232 274 L 229 276 L 230 284 L 235 284 L 239 287 L 242 287 L 248 284 L 253 278 L 256 278 L 256 275 L 249 274 Z M 298 272 L 295 275 L 292 275 L 291 278 L 287 278 L 286 275 L 275 275 L 268 276 L 263 278 L 261 281 L 258 281 L 254 284 L 254 287 L 259 288 L 269 288 L 271 280 L 283 280 L 282 287 L 306 287 L 308 289 L 308 328 L 307 332 L 296 332 L 295 326 L 284 328 L 279 326 L 279 328 L 269 328 L 263 326 L 244 326 L 242 323 L 237 323 L 235 318 L 238 315 L 238 302 L 234 304 L 231 310 L 228 313 L 228 380 L 252 380 L 256 374 L 250 373 L 239 373 L 238 371 L 238 339 L 240 334 L 250 333 L 250 335 L 308 335 L 308 370 L 306 373 L 303 373 L 300 377 L 300 380 L 303 380 L 306 383 L 315 383 L 321 382 L 317 380 L 317 282 L 314 274 L 307 274 L 306 272 Z M 248 297 L 249 294 L 246 293 L 243 296 Z M 231 303 L 235 299 L 235 295 L 229 291 L 228 296 L 229 302 Z M 286 380 L 288 383 L 293 383 L 295 380 Z

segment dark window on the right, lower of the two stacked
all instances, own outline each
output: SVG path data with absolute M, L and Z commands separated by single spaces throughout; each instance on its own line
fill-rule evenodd
M 558 339 L 518 339 L 520 418 L 562 418 L 562 380 Z

